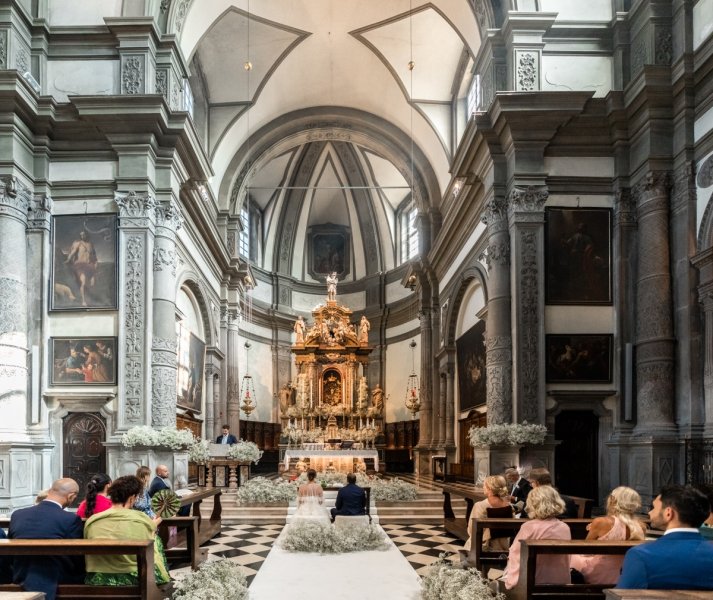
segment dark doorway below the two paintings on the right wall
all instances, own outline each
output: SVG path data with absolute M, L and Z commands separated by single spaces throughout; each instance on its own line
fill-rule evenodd
M 599 418 L 589 410 L 563 410 L 555 418 L 555 485 L 571 496 L 592 498 L 599 492 Z

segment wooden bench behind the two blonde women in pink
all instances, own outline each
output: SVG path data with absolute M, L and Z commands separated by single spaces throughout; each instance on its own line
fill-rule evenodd
M 536 584 L 535 572 L 537 557 L 557 554 L 613 554 L 624 555 L 642 541 L 608 542 L 583 540 L 522 540 L 520 552 L 520 577 L 517 585 L 508 590 L 508 600 L 552 600 L 553 598 L 567 600 L 601 600 L 604 591 L 613 586 L 595 585 L 589 583 L 570 583 L 564 585 Z M 673 598 L 673 596 L 671 596 Z

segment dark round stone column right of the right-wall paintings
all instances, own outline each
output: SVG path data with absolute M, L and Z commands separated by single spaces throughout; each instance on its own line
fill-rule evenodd
M 634 189 L 639 224 L 636 279 L 635 435 L 673 433 L 674 339 L 669 265 L 669 175 Z

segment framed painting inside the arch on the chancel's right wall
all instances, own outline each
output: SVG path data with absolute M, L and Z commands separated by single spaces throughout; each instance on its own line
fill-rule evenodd
M 478 321 L 456 340 L 460 410 L 486 402 L 485 321 Z

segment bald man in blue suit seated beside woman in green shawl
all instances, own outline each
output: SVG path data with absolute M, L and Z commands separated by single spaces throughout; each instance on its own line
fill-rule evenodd
M 8 537 L 16 540 L 81 539 L 84 524 L 74 513 L 66 512 L 77 498 L 79 486 L 74 479 L 58 479 L 47 498 L 12 513 Z M 84 581 L 84 557 L 46 556 L 14 557 L 13 580 L 28 592 L 44 592 L 46 600 L 55 600 L 58 583 Z

